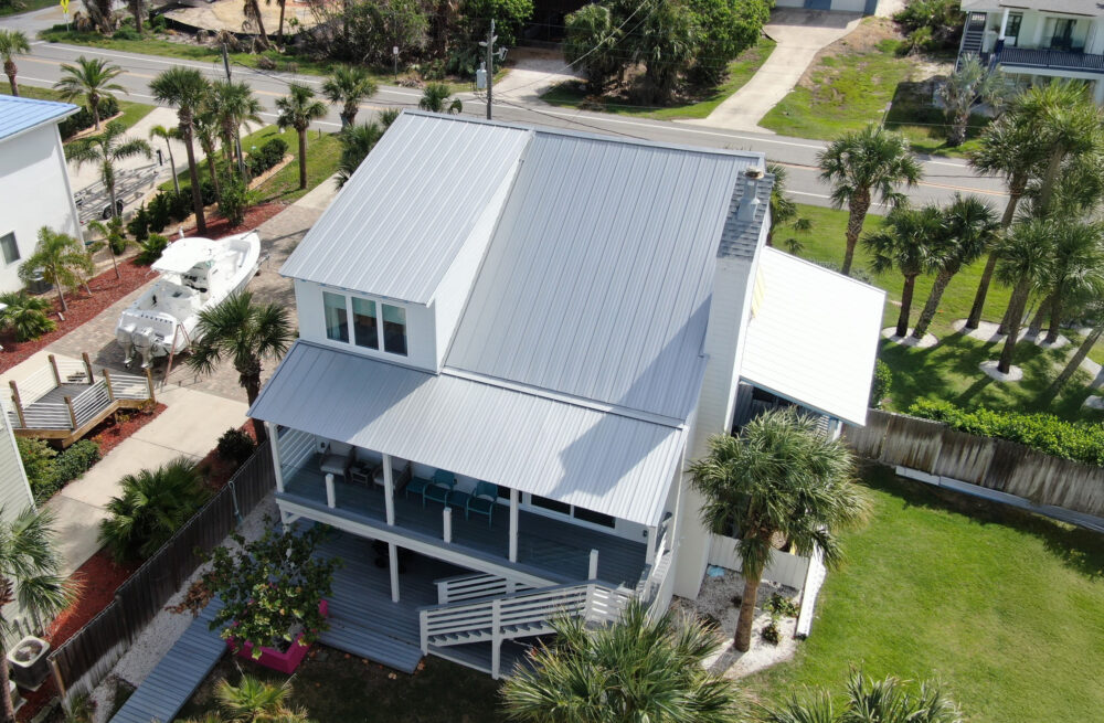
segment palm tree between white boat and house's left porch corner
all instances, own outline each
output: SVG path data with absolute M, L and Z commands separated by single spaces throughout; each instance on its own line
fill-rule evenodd
M 261 393 L 262 363 L 279 361 L 295 338 L 287 309 L 278 304 L 253 304 L 248 291 L 235 294 L 222 304 L 200 312 L 188 364 L 200 374 L 210 374 L 215 364 L 230 359 L 245 387 L 250 406 Z M 264 442 L 265 428 L 253 421 L 257 442 Z

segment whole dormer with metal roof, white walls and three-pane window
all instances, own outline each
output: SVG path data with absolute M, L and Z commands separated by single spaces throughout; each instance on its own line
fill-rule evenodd
M 439 371 L 531 138 L 400 116 L 280 268 L 300 337 Z

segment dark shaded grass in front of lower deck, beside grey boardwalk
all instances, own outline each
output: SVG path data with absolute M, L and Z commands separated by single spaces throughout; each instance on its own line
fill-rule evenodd
M 362 662 L 319 646 L 290 678 L 293 708 L 304 708 L 315 723 L 497 723 L 505 721 L 499 682 L 470 668 L 429 657 L 413 676 L 392 673 L 376 663 Z M 177 720 L 201 720 L 215 712 L 214 681 L 237 683 L 237 666 L 270 682 L 287 676 L 251 661 L 224 658 L 197 691 Z M 393 674 L 394 679 L 390 676 Z

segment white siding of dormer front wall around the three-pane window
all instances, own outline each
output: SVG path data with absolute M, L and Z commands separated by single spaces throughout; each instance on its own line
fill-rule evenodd
M 428 307 L 416 304 L 401 304 L 384 300 L 384 304 L 406 309 L 406 355 L 389 354 L 374 349 L 365 349 L 349 342 L 332 341 L 326 338 L 326 317 L 322 313 L 322 291 L 352 295 L 346 289 L 321 286 L 314 281 L 295 279 L 295 306 L 299 315 L 299 338 L 325 347 L 363 354 L 372 359 L 382 359 L 406 366 L 417 366 L 428 371 L 437 371 L 437 355 L 434 349 L 436 336 L 433 327 L 433 311 Z M 372 298 L 364 295 L 362 298 Z M 350 325 L 352 320 L 350 319 Z

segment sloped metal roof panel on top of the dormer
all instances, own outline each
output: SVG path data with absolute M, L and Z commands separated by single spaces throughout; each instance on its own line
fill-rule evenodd
M 404 113 L 280 268 L 428 304 L 532 130 Z

